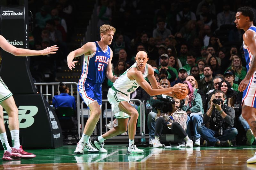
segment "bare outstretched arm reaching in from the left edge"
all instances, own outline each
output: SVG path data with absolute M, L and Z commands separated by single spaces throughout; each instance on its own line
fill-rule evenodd
M 0 47 L 7 51 L 8 53 L 11 53 L 15 56 L 33 56 L 33 55 L 48 55 L 48 54 L 55 54 L 59 47 L 56 47 L 56 45 L 47 47 L 43 50 L 31 50 L 31 49 L 25 49 L 25 48 L 17 48 L 13 45 L 9 44 L 6 39 L 0 35 Z

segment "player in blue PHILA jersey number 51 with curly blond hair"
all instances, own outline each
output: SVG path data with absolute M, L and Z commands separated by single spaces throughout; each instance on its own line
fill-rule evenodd
M 113 40 L 116 29 L 113 26 L 100 26 L 100 41 L 87 42 L 81 48 L 69 53 L 67 57 L 68 68 L 75 68 L 74 57 L 84 55 L 84 63 L 81 78 L 78 81 L 78 91 L 84 103 L 90 108 L 91 116 L 88 118 L 83 136 L 76 146 L 75 153 L 99 152 L 90 144 L 90 136 L 96 127 L 101 115 L 101 83 L 105 76 L 115 82 L 117 79 L 112 72 L 113 52 L 108 45 Z

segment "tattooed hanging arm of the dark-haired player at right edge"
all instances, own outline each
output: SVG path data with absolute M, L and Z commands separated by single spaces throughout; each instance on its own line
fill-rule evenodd
M 250 49 L 250 52 L 254 57 L 252 57 L 251 66 L 248 70 L 245 78 L 241 81 L 241 83 L 238 86 L 238 90 L 240 92 L 244 91 L 249 84 L 250 79 L 252 78 L 254 72 L 256 71 L 256 35 L 252 31 L 246 31 L 243 35 L 244 43 L 248 46 Z

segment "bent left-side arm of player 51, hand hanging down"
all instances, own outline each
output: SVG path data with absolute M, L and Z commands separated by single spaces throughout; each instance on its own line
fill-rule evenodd
M 74 51 L 71 51 L 68 54 L 68 57 L 67 57 L 68 68 L 70 70 L 72 70 L 72 68 L 75 68 L 75 63 L 78 62 L 78 61 L 73 61 L 73 59 L 75 57 L 81 56 L 83 54 L 91 55 L 91 54 L 94 53 L 95 49 L 96 49 L 96 47 L 95 47 L 95 44 L 93 42 L 87 42 L 81 48 L 78 48 L 78 49 L 76 49 Z

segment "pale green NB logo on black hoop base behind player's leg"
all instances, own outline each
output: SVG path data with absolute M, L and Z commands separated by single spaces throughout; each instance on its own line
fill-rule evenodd
M 35 116 L 38 112 L 38 107 L 36 106 L 20 106 L 19 108 L 19 122 L 20 122 L 20 128 L 28 128 L 30 127 L 34 122 L 35 119 L 33 116 Z M 8 115 L 7 112 L 4 111 L 4 123 L 8 121 Z

